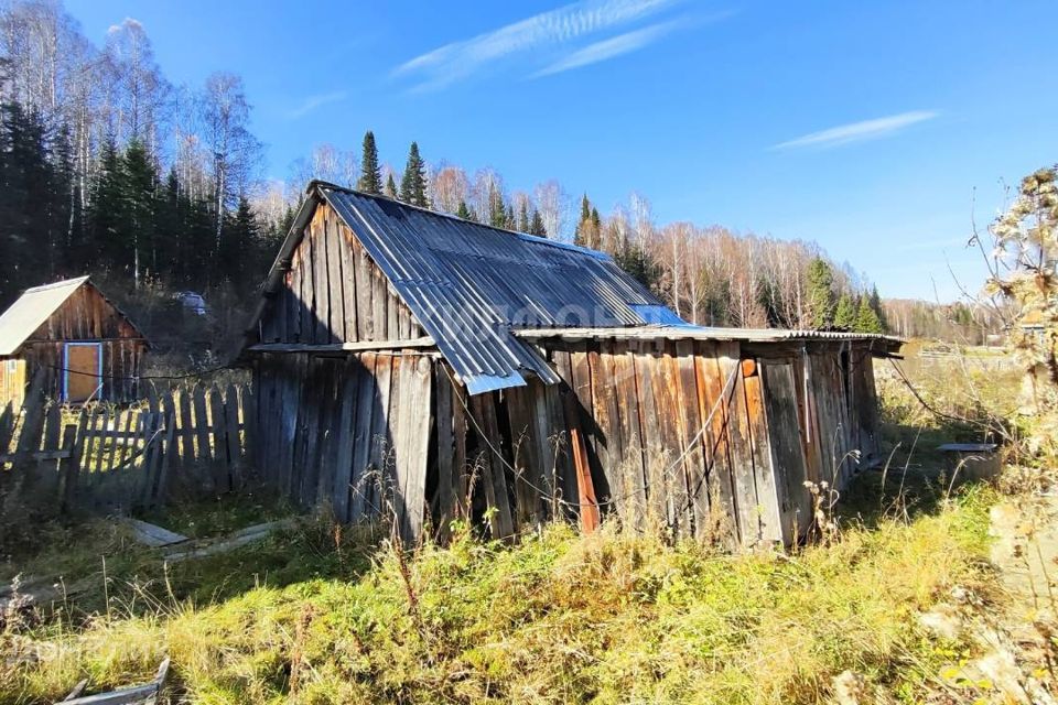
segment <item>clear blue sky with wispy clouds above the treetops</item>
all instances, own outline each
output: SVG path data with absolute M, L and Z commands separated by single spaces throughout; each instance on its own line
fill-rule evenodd
M 1052 0 L 66 4 L 99 44 L 142 22 L 173 82 L 240 74 L 268 175 L 374 129 L 398 165 L 816 240 L 885 296 L 979 286 L 971 216 L 1058 161 Z

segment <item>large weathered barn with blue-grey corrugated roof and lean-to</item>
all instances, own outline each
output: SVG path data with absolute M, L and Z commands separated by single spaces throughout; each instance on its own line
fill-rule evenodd
M 313 182 L 245 359 L 263 479 L 403 534 L 809 530 L 877 453 L 877 335 L 703 328 L 607 256 Z

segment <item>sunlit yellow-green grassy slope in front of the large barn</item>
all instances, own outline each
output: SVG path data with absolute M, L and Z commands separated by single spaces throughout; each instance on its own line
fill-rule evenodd
M 846 669 L 914 702 L 969 649 L 918 611 L 956 585 L 989 597 L 989 501 L 849 522 L 791 556 L 564 527 L 403 556 L 312 524 L 169 587 L 139 562 L 109 617 L 9 629 L 4 649 L 35 658 L 0 661 L 0 701 L 145 680 L 169 654 L 196 703 L 819 702 Z

